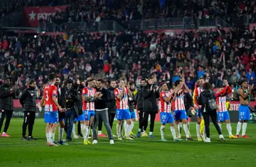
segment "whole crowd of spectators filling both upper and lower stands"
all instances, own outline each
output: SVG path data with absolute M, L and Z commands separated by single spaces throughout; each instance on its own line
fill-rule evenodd
M 42 2 L 43 1 L 28 1 Z M 46 1 L 45 1 L 46 2 Z M 194 16 L 199 20 L 220 16 L 232 22 L 234 14 L 255 14 L 254 1 L 166 0 L 163 8 L 144 1 L 77 0 L 66 11 L 49 17 L 46 22 L 115 20 L 127 25 L 129 20 Z M 201 3 L 205 6 L 200 7 Z M 16 1 L 25 6 L 26 1 Z M 47 1 L 49 3 L 49 1 Z M 254 6 L 254 7 L 253 7 Z M 238 12 L 240 11 L 240 12 Z M 122 33 L 75 33 L 68 36 L 3 36 L 0 39 L 1 78 L 12 76 L 16 94 L 20 95 L 29 79 L 35 78 L 42 91 L 47 75 L 55 72 L 62 80 L 68 77 L 105 77 L 117 80 L 126 77 L 139 85 L 142 77 L 154 74 L 157 82 L 186 78 L 188 87 L 200 77 L 206 77 L 213 87 L 227 79 L 234 91 L 240 79 L 255 84 L 256 29 L 231 28 L 225 31 L 196 30 L 182 34 L 143 33 L 132 30 Z M 124 63 L 125 62 L 125 63 Z

